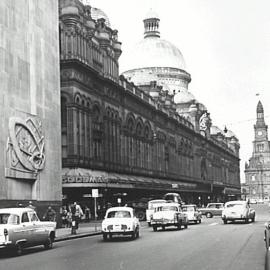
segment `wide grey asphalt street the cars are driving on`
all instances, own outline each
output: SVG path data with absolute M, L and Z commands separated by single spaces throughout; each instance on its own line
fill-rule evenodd
M 91 270 L 262 270 L 265 268 L 264 223 L 268 205 L 252 205 L 255 223 L 224 225 L 220 217 L 203 218 L 202 224 L 178 231 L 153 232 L 142 222 L 140 238 L 101 235 L 55 243 L 54 248 L 27 249 L 23 256 L 1 255 L 1 269 Z M 4 267 L 4 268 L 2 268 Z

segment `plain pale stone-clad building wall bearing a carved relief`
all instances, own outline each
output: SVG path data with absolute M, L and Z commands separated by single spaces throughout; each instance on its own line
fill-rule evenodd
M 0 207 L 59 211 L 58 2 L 3 0 L 0 15 Z

